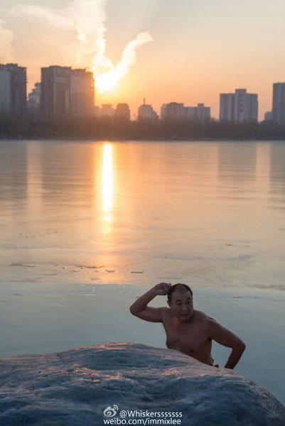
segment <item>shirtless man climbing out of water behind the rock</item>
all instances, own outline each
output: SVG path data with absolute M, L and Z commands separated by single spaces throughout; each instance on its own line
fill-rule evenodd
M 169 307 L 149 307 L 157 295 L 168 295 Z M 162 322 L 168 349 L 181 351 L 204 364 L 213 365 L 212 340 L 232 349 L 225 368 L 234 368 L 245 349 L 244 342 L 234 333 L 194 309 L 193 292 L 188 285 L 159 283 L 139 297 L 129 310 L 141 320 Z

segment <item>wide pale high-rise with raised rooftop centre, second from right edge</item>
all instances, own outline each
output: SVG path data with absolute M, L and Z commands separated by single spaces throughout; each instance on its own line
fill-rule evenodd
M 235 93 L 220 94 L 220 121 L 257 121 L 257 94 L 246 89 L 235 89 Z

